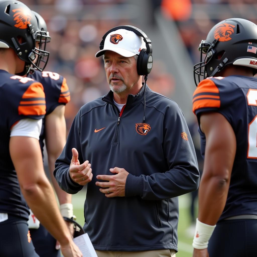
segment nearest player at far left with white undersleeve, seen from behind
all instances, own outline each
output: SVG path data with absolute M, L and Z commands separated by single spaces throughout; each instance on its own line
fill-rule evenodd
M 34 14 L 19 1 L 0 2 L 0 31 L 0 255 L 38 256 L 27 225 L 27 202 L 59 240 L 64 256 L 82 256 L 44 174 L 39 144 L 45 114 L 43 86 L 22 77 L 31 65 L 37 67 L 36 56 L 48 55 L 35 48 L 35 39 L 42 34 Z

